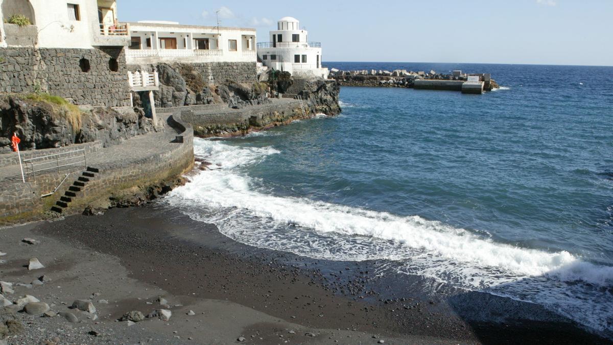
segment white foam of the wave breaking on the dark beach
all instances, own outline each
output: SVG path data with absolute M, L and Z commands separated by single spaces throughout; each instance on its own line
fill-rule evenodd
M 549 285 L 541 289 L 530 285 L 538 293 L 522 295 L 521 299 L 541 303 L 535 296 L 555 295 L 549 298 L 550 308 L 575 319 L 573 314 L 577 308 L 585 309 L 585 303 L 566 296 L 568 284 L 563 282 L 613 285 L 613 267 L 593 265 L 569 252 L 495 242 L 416 215 L 401 217 L 307 198 L 270 195 L 257 188 L 241 170 L 280 153 L 278 150 L 201 139 L 194 144 L 196 155 L 221 165 L 221 169 L 192 177 L 191 184 L 173 190 L 168 200 L 193 219 L 215 223 L 236 241 L 327 260 L 397 260 L 407 263 L 401 269 L 406 273 L 468 289 L 510 293 L 514 298 L 522 295 L 513 292 L 523 286 L 522 281 L 538 279 L 541 285 L 547 281 Z M 558 305 L 557 301 L 565 298 L 570 300 Z M 610 302 L 604 305 L 611 306 Z M 587 309 L 596 310 L 590 306 Z M 589 310 L 584 315 L 590 314 Z M 611 316 L 603 316 L 603 312 L 598 315 L 579 318 L 579 322 L 607 328 L 606 317 Z

